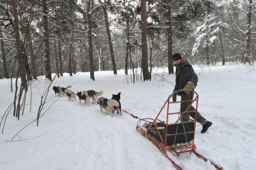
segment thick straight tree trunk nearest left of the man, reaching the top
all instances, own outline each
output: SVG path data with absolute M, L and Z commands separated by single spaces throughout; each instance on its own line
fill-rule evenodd
M 142 59 L 141 68 L 143 80 L 150 80 L 150 72 L 148 71 L 148 46 L 147 46 L 147 4 L 146 0 L 141 0 L 141 42 L 142 42 Z

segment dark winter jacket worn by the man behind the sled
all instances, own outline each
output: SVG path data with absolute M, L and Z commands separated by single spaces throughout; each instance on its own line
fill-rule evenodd
M 192 82 L 195 87 L 197 86 L 198 77 L 197 74 L 195 74 L 194 69 L 192 68 L 192 65 L 189 64 L 189 62 L 182 60 L 180 62 L 180 71 L 177 75 L 177 69 L 176 69 L 176 79 L 175 79 L 175 88 L 174 91 L 181 90 L 184 88 L 185 85 L 187 85 L 187 82 Z M 178 93 L 180 96 L 183 93 Z

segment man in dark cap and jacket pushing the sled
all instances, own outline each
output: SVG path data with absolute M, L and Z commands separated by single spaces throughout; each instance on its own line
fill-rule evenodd
M 174 65 L 176 67 L 176 80 L 175 80 L 175 88 L 174 91 L 181 90 L 181 89 L 187 89 L 187 90 L 194 90 L 194 88 L 197 86 L 198 77 L 197 74 L 195 74 L 194 69 L 192 68 L 192 65 L 189 64 L 189 62 L 184 61 L 181 58 L 180 53 L 174 53 L 172 56 Z M 181 96 L 181 101 L 185 100 L 193 100 L 194 98 L 194 91 L 184 91 L 181 93 L 178 93 L 178 96 Z M 176 102 L 177 94 L 174 93 L 172 96 L 173 102 Z M 187 106 L 190 105 L 190 102 L 182 102 L 180 103 L 180 112 L 184 112 L 187 108 Z M 194 111 L 195 108 L 191 106 L 188 111 Z M 182 119 L 183 121 L 189 121 L 189 115 L 192 118 L 195 118 L 195 112 L 190 112 L 187 114 L 183 114 Z M 197 112 L 197 121 L 203 126 L 203 129 L 201 130 L 201 133 L 204 133 L 207 131 L 207 129 L 212 126 L 212 122 L 207 121 L 206 118 L 202 117 L 199 112 Z

